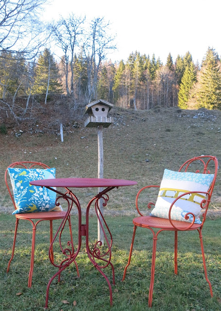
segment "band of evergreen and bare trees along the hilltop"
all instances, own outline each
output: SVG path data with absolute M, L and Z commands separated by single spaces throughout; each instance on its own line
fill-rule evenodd
M 55 99 L 68 102 L 68 109 L 75 113 L 100 98 L 135 110 L 156 105 L 221 109 L 221 60 L 214 48 L 208 47 L 201 64 L 194 63 L 188 51 L 175 60 L 169 53 L 166 64 L 148 51 L 143 55 L 131 52 L 126 60 L 113 63 L 107 56 L 116 49 L 115 38 L 104 18 L 94 18 L 86 27 L 85 17 L 71 13 L 51 24 L 33 27 L 45 2 L 22 1 L 16 17 L 12 7 L 16 2 L 4 1 L 7 14 L 1 8 L 2 119 L 9 114 L 16 120 L 28 118 L 39 103 L 47 105 Z M 29 13 L 28 20 L 25 12 Z M 30 26 L 25 33 L 29 42 L 18 46 L 24 39 L 24 22 Z M 55 47 L 60 56 L 50 47 Z

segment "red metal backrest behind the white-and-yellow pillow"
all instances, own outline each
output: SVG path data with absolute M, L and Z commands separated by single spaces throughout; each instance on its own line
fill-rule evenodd
M 209 195 L 211 199 L 211 195 L 213 192 L 213 188 L 216 182 L 218 171 L 218 160 L 215 156 L 211 155 L 201 155 L 195 156 L 189 160 L 187 160 L 179 169 L 179 172 L 194 172 L 194 173 L 201 173 L 201 174 L 214 174 L 213 181 L 209 187 Z M 204 210 L 203 214 L 203 223 L 205 221 L 206 212 L 208 209 L 208 205 Z

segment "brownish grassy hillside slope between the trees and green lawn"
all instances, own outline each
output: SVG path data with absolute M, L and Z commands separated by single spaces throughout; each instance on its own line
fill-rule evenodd
M 106 207 L 109 213 L 133 213 L 138 189 L 159 184 L 165 168 L 178 170 L 195 155 L 216 155 L 221 160 L 221 111 L 114 107 L 111 115 L 113 125 L 103 129 L 104 177 L 132 179 L 138 185 L 112 191 Z M 83 120 L 68 122 L 61 142 L 59 124 L 50 120 L 45 117 L 31 125 L 24 123 L 0 135 L 0 211 L 13 210 L 4 184 L 4 172 L 11 162 L 41 161 L 56 167 L 57 177 L 97 177 L 97 129 L 84 128 Z M 21 135 L 16 137 L 16 133 Z M 218 174 L 215 208 L 221 205 L 220 186 Z M 79 191 L 85 204 L 94 190 Z

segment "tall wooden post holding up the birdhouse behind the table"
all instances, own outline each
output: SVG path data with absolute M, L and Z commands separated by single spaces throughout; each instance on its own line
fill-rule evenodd
M 103 126 L 98 126 L 98 178 L 103 178 Z M 101 192 L 103 188 L 98 188 L 98 191 Z M 103 200 L 99 200 L 99 208 L 103 213 Z M 100 216 L 100 213 L 99 213 Z M 103 220 L 102 225 L 103 225 Z M 98 220 L 98 241 L 101 241 L 103 244 L 103 231 Z

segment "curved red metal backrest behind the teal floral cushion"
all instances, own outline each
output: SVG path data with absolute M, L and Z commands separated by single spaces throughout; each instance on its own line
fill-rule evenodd
M 11 182 L 8 183 L 8 179 L 9 179 L 8 168 L 10 168 L 10 167 L 11 168 L 17 167 L 17 168 L 24 168 L 24 169 L 32 169 L 32 168 L 50 169 L 50 167 L 46 164 L 41 163 L 41 162 L 31 162 L 31 161 L 14 162 L 7 167 L 5 174 L 4 174 L 5 184 L 6 184 L 6 187 L 8 189 L 9 195 L 12 199 L 13 205 L 14 205 L 15 209 L 17 209 L 16 204 L 15 204 L 15 200 L 14 200 L 14 196 L 13 196 L 13 191 L 12 191 L 11 187 L 9 186 L 9 185 L 11 185 Z

